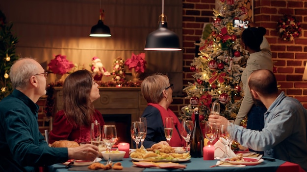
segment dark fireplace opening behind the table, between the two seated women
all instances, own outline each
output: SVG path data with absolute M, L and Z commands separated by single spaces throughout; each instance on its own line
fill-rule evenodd
M 113 146 L 117 148 L 117 144 L 121 142 L 127 142 L 131 148 L 131 114 L 102 114 L 105 124 L 115 125 L 118 140 Z

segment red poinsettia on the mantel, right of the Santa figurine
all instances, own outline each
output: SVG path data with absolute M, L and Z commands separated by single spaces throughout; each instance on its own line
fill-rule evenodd
M 132 53 L 131 58 L 127 59 L 125 62 L 125 65 L 129 67 L 129 70 L 132 68 L 135 69 L 135 72 L 137 73 L 144 73 L 146 69 L 146 60 L 145 60 L 145 53 L 140 53 L 138 55 L 135 55 Z

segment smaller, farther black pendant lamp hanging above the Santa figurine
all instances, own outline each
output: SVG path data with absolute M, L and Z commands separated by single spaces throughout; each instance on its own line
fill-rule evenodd
M 110 28 L 107 25 L 103 24 L 104 19 L 104 10 L 100 9 L 99 21 L 91 29 L 91 37 L 110 37 L 111 32 Z

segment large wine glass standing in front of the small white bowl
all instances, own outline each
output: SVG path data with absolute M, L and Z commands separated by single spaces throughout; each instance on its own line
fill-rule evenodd
M 107 165 L 112 163 L 111 161 L 111 148 L 117 141 L 117 133 L 115 125 L 104 125 L 102 128 L 102 141 L 109 151 L 109 160 Z

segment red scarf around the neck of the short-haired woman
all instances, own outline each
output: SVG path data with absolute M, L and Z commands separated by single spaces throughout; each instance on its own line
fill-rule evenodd
M 170 146 L 171 147 L 182 147 L 185 145 L 185 141 L 184 139 L 181 138 L 181 124 L 180 121 L 178 119 L 178 117 L 176 116 L 176 114 L 171 110 L 171 109 L 165 109 L 163 107 L 161 107 L 158 104 L 153 104 L 153 103 L 149 103 L 147 105 L 153 106 L 154 108 L 157 108 L 160 111 L 161 114 L 161 118 L 163 121 L 163 126 L 165 123 L 165 118 L 166 117 L 173 117 L 173 122 L 174 122 L 174 131 L 173 131 L 173 135 L 172 138 L 170 140 Z

